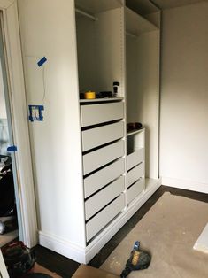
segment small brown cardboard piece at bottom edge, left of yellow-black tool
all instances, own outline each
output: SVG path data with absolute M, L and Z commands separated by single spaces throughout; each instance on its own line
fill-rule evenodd
M 73 274 L 73 278 L 118 278 L 119 276 L 114 274 L 109 274 L 104 270 L 97 269 L 92 266 L 81 265 L 75 274 Z

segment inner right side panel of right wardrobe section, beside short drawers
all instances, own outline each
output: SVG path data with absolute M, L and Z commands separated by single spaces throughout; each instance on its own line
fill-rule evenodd
M 145 126 L 146 176 L 158 179 L 159 31 L 137 39 L 138 119 Z

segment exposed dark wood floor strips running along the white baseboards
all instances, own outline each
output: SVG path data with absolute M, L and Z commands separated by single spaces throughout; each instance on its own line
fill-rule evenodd
M 107 259 L 111 252 L 122 241 L 122 239 L 127 236 L 130 230 L 135 227 L 138 221 L 143 218 L 145 213 L 150 210 L 150 207 L 154 205 L 157 202 L 158 198 L 161 197 L 166 191 L 172 193 L 173 195 L 189 197 L 208 203 L 208 194 L 161 186 L 152 195 L 152 197 L 150 197 L 150 199 L 137 212 L 135 212 L 133 217 L 128 220 L 122 228 L 120 228 L 119 232 L 112 237 L 112 239 L 104 246 L 104 248 L 99 251 L 96 257 L 89 262 L 89 265 L 99 268 L 103 264 L 104 260 Z M 37 245 L 35 247 L 35 252 L 37 256 L 37 262 L 40 265 L 45 266 L 53 272 L 56 272 L 63 278 L 72 277 L 76 269 L 80 266 L 79 263 L 74 262 L 72 259 L 67 259 L 40 245 Z

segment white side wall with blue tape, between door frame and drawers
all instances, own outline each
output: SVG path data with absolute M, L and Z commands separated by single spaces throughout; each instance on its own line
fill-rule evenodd
M 85 246 L 73 0 L 19 0 L 19 19 L 27 104 L 44 105 L 30 123 L 40 235 L 55 251 Z

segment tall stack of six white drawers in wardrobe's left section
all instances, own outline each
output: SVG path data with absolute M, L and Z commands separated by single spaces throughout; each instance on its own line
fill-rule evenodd
M 87 243 L 125 208 L 124 104 L 81 105 Z

